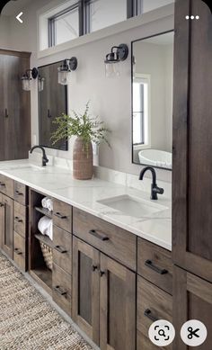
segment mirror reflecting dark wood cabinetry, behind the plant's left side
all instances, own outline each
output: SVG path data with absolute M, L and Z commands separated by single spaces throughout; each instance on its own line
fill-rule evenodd
M 51 135 L 57 125 L 57 116 L 67 113 L 67 87 L 58 84 L 58 71 L 62 62 L 39 67 L 39 141 L 40 146 L 67 150 L 67 139 L 52 145 Z

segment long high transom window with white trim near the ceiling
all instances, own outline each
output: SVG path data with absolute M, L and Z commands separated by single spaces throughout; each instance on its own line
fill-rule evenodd
M 98 31 L 141 13 L 143 0 L 70 0 L 41 16 L 41 49 Z M 46 21 L 49 35 L 43 34 Z

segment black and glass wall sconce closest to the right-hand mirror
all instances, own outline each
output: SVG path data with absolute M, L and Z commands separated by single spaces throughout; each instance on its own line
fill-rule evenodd
M 128 45 L 113 46 L 104 60 L 105 76 L 119 76 L 119 62 L 124 61 L 126 58 L 128 58 Z

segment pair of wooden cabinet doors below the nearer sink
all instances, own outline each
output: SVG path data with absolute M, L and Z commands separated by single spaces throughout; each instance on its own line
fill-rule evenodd
M 136 274 L 74 238 L 73 319 L 104 349 L 136 348 Z

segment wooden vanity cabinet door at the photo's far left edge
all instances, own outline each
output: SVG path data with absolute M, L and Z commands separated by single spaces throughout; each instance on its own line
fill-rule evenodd
M 8 256 L 13 258 L 13 200 L 4 194 L 2 199 L 4 204 L 3 249 Z

